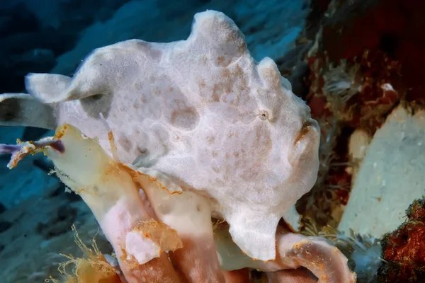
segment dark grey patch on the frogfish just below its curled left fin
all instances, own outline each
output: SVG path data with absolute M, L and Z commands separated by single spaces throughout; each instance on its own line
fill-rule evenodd
M 112 105 L 112 94 L 96 94 L 80 100 L 81 107 L 84 112 L 94 119 L 101 119 L 99 113 L 103 114 L 103 117 L 107 118 L 111 111 Z

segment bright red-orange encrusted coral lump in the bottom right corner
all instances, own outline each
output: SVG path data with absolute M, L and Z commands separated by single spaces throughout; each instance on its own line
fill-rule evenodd
M 423 282 L 425 276 L 425 201 L 415 200 L 404 224 L 382 240 L 378 282 Z

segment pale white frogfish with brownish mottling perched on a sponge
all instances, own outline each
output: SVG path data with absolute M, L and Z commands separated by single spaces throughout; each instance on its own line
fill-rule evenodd
M 30 74 L 51 104 L 125 163 L 169 176 L 210 200 L 252 258 L 273 260 L 279 219 L 317 177 L 319 130 L 276 64 L 256 64 L 223 13 L 198 13 L 187 40 L 128 40 L 95 50 L 74 78 Z M 104 120 L 100 118 L 103 115 Z

